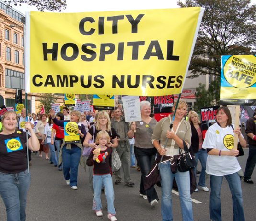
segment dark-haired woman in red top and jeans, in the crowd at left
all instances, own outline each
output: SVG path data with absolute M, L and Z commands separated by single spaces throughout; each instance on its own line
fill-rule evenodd
M 57 113 L 56 114 L 56 118 L 59 121 L 63 121 L 64 120 L 63 113 L 61 113 L 61 112 Z M 55 148 L 56 148 L 56 151 L 57 151 L 57 162 L 59 160 L 59 151 L 60 151 L 60 147 L 61 147 L 61 144 L 63 142 L 63 139 L 64 139 L 64 127 L 57 126 L 54 123 L 53 126 L 52 126 L 51 144 L 54 145 Z M 58 163 L 58 170 L 62 171 L 62 164 Z

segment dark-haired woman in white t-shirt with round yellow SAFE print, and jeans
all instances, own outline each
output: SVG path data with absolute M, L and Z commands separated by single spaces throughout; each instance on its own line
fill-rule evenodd
M 216 112 L 217 123 L 206 132 L 202 148 L 207 150 L 206 173 L 210 174 L 210 219 L 221 219 L 221 184 L 226 178 L 233 199 L 233 221 L 245 221 L 242 199 L 241 180 L 238 171 L 241 169 L 234 150 L 234 133 L 238 135 L 242 147 L 246 141 L 240 128 L 233 130 L 231 114 L 227 107 L 220 107 Z

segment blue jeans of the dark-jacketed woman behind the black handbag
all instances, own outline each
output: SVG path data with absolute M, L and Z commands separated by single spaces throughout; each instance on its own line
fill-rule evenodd
M 205 185 L 205 168 L 206 168 L 206 160 L 207 160 L 207 151 L 205 149 L 198 150 L 198 152 L 195 154 L 195 159 L 196 159 L 197 165 L 198 165 L 198 159 L 199 159 L 202 166 L 198 185 L 201 187 L 205 187 L 206 186 Z M 193 169 L 195 177 L 197 175 L 197 165 Z

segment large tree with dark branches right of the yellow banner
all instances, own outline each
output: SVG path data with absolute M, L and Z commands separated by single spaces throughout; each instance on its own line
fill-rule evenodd
M 221 75 L 221 55 L 256 53 L 256 5 L 250 0 L 186 0 L 180 7 L 204 7 L 189 78 Z

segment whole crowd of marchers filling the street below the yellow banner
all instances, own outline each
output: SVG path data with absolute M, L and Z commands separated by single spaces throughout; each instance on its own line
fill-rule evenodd
M 98 217 L 103 216 L 101 193 L 105 190 L 107 218 L 117 220 L 114 186 L 123 182 L 127 187 L 138 188 L 139 195 L 147 199 L 151 207 L 157 206 L 160 200 L 154 185 L 161 186 L 162 221 L 173 221 L 172 188 L 175 181 L 183 221 L 193 221 L 192 190 L 209 192 L 210 220 L 222 221 L 221 184 L 225 177 L 232 194 L 233 221 L 245 221 L 241 179 L 253 184 L 255 114 L 246 123 L 249 155 L 243 173 L 237 160 L 239 150 L 233 148 L 234 136 L 238 136 L 243 148 L 247 144 L 240 128 L 232 125 L 230 110 L 224 106 L 217 110 L 216 123 L 209 127 L 203 138 L 198 114 L 187 112 L 187 108 L 185 101 L 175 102 L 172 114 L 159 122 L 154 119 L 148 101 L 140 102 L 141 120 L 136 122 L 125 121 L 121 104 L 111 111 L 85 111 L 82 114 L 77 110 L 69 112 L 66 107 L 58 113 L 51 109 L 48 114 L 32 113 L 29 116 L 26 116 L 25 109 L 19 116 L 14 111 L 4 113 L 0 122 L 0 195 L 6 207 L 7 221 L 26 220 L 30 185 L 28 167 L 33 165 L 31 153 L 61 171 L 66 184 L 73 190 L 79 187 L 79 164 L 84 166 L 93 194 L 92 210 Z M 79 141 L 65 141 L 64 126 L 67 122 L 77 125 Z M 184 172 L 175 162 L 186 152 L 186 147 L 195 158 L 196 166 Z M 113 173 L 115 153 L 121 168 Z M 200 172 L 197 171 L 198 160 Z M 153 180 L 148 175 L 154 166 L 157 166 L 161 181 L 149 185 Z M 140 184 L 132 180 L 130 171 L 133 168 L 141 173 Z M 193 177 L 196 180 L 197 173 L 200 176 L 193 189 L 191 182 Z M 210 187 L 206 186 L 206 174 L 210 177 Z

